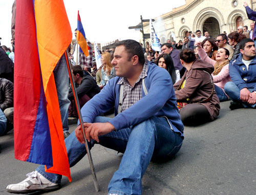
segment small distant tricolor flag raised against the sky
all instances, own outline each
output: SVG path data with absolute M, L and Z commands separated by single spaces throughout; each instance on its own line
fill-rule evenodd
M 77 14 L 77 31 L 76 31 L 76 40 L 80 46 L 80 53 L 84 53 L 84 55 L 89 56 L 87 41 L 86 41 L 86 33 L 84 33 L 81 18 L 79 15 L 79 11 Z

